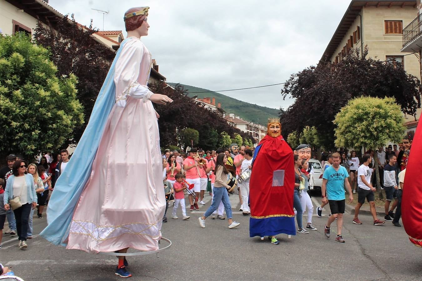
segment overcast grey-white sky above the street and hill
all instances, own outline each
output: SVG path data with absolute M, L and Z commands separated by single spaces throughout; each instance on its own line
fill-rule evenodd
M 128 8 L 149 6 L 142 41 L 168 82 L 213 91 L 282 83 L 318 63 L 350 0 L 50 0 L 81 24 L 124 31 Z M 223 92 L 245 102 L 287 108 L 282 86 Z M 217 101 L 218 102 L 218 101 Z M 223 104 L 224 108 L 224 104 Z

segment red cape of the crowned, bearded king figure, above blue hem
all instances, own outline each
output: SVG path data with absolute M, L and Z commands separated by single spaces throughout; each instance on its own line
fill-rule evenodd
M 293 151 L 282 136 L 273 138 L 266 135 L 260 145 L 249 182 L 251 218 L 294 217 Z M 284 170 L 284 185 L 273 186 L 273 172 L 278 170 Z

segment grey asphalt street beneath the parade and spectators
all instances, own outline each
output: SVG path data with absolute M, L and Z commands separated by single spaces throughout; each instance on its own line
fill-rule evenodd
M 346 214 L 346 243 L 341 244 L 334 241 L 335 224 L 331 227 L 332 237 L 327 239 L 323 234 L 327 217 L 314 216 L 317 231 L 292 238 L 280 235 L 281 243 L 272 245 L 258 237 L 249 238 L 249 217 L 238 211 L 238 196 L 230 198 L 232 206 L 236 206 L 233 218 L 241 223 L 239 227 L 229 230 L 227 219 L 208 218 L 206 228 L 200 228 L 197 217 L 210 205 L 208 196 L 206 205 L 190 214 L 191 219 L 171 219 L 170 215 L 162 234 L 173 246 L 159 253 L 159 258 L 155 254 L 127 258 L 133 274 L 130 280 L 422 279 L 422 249 L 412 246 L 403 227 L 391 222 L 373 226 L 372 217 L 367 215 L 360 216 L 363 225 L 354 225 L 352 215 Z M 168 214 L 171 211 L 172 207 Z M 35 233 L 45 225 L 45 218 L 34 218 Z M 27 250 L 16 245 L 16 236 L 4 236 L 0 262 L 12 266 L 25 281 L 120 279 L 114 275 L 115 257 L 66 250 L 37 235 L 28 241 Z

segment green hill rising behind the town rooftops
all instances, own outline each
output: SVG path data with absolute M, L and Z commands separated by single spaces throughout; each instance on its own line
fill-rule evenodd
M 171 86 L 177 85 L 177 83 L 167 84 Z M 221 107 L 226 112 L 226 115 L 228 115 L 229 113 L 234 113 L 235 116 L 239 115 L 243 120 L 251 121 L 264 126 L 267 126 L 268 118 L 279 116 L 280 110 L 275 108 L 269 108 L 257 104 L 251 104 L 249 102 L 243 102 L 217 92 L 192 94 L 190 92 L 205 92 L 210 90 L 184 85 L 180 83 L 179 85 L 183 86 L 183 88 L 187 90 L 187 96 L 189 97 L 197 96 L 199 99 L 203 99 L 205 97 L 215 97 L 216 104 L 218 102 L 221 102 Z

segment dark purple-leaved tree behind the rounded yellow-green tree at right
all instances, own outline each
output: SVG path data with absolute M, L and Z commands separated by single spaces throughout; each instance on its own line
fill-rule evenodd
M 420 80 L 389 60 L 367 58 L 368 48 L 351 49 L 338 64 L 329 61 L 290 76 L 281 94 L 292 97 L 295 103 L 281 112 L 282 134 L 301 132 L 305 126 L 315 126 L 325 148 L 334 142 L 334 116 L 347 102 L 361 96 L 395 98 L 401 111 L 416 115 L 421 107 Z

